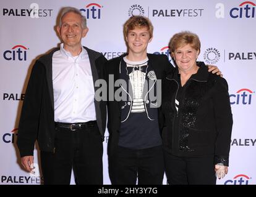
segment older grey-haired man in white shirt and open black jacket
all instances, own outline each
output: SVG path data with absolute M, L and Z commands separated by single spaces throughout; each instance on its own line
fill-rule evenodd
M 17 145 L 31 172 L 38 140 L 45 184 L 69 184 L 72 168 L 79 184 L 103 183 L 106 102 L 94 98 L 106 58 L 81 44 L 86 18 L 74 7 L 60 15 L 58 49 L 39 58 L 28 82 Z

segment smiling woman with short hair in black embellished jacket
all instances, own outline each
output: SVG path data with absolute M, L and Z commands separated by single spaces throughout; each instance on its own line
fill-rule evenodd
M 228 173 L 233 118 L 228 84 L 197 65 L 198 36 L 174 34 L 169 42 L 176 71 L 163 81 L 160 127 L 170 184 L 216 184 Z

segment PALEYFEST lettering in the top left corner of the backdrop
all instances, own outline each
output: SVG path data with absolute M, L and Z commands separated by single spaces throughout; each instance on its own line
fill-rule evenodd
M 41 9 L 39 4 L 33 2 L 30 4 L 28 9 L 17 9 L 17 8 L 2 8 L 3 16 L 14 16 L 14 17 L 30 17 L 30 18 L 40 18 L 40 17 L 51 17 L 53 14 L 53 9 Z

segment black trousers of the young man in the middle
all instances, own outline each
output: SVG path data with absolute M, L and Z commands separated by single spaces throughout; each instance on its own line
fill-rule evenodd
M 163 183 L 163 148 L 153 147 L 142 150 L 118 147 L 116 155 L 109 156 L 109 177 L 114 185 Z

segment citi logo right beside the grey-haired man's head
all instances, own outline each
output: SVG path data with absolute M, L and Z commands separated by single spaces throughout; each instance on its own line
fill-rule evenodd
M 92 3 L 85 6 L 85 9 L 80 9 L 80 11 L 87 19 L 100 19 L 102 7 L 99 4 Z

